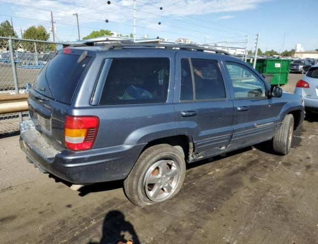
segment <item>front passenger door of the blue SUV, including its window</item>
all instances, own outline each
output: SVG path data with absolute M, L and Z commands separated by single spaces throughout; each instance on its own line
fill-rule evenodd
M 224 58 L 223 64 L 234 97 L 234 131 L 229 148 L 235 149 L 271 139 L 281 105 L 277 98 L 268 97 L 269 84 L 243 62 Z

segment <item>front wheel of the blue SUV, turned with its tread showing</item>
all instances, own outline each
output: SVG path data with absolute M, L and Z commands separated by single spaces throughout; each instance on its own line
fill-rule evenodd
M 273 149 L 275 152 L 287 155 L 292 145 L 294 134 L 294 116 L 288 114 L 285 116 L 280 128 L 273 137 Z

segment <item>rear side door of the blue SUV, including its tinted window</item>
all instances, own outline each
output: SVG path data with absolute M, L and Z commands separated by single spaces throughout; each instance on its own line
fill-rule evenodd
M 198 157 L 220 153 L 233 132 L 233 103 L 215 57 L 176 53 L 175 116 L 181 133 L 193 137 Z

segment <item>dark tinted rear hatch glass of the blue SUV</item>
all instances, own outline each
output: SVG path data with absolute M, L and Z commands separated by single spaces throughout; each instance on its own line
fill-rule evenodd
M 77 63 L 80 56 L 59 54 L 42 69 L 34 90 L 60 102 L 70 104 L 90 57 Z

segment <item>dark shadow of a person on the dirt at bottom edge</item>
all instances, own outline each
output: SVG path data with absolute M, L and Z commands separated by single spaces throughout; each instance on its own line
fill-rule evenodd
M 127 234 L 127 237 L 125 234 Z M 126 243 L 128 240 L 133 241 L 134 244 L 140 244 L 134 226 L 125 220 L 122 212 L 112 210 L 105 216 L 100 241 L 89 242 L 88 244 L 117 244 L 120 241 Z

